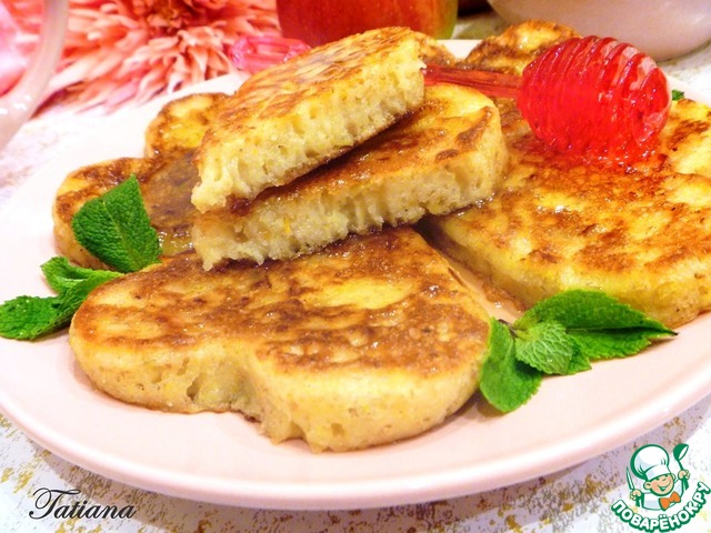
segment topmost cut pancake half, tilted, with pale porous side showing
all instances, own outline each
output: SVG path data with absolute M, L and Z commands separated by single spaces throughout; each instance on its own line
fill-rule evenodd
M 415 110 L 420 39 L 383 28 L 314 48 L 249 78 L 196 154 L 201 212 L 289 183 Z

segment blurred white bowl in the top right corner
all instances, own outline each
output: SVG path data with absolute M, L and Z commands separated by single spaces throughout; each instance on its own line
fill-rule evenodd
M 658 61 L 711 40 L 711 0 L 489 0 L 508 23 L 559 22 L 583 36 L 613 37 Z

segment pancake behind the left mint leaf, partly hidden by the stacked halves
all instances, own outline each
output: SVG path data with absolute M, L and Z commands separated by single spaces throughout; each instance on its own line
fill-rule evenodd
M 198 182 L 192 154 L 226 98 L 226 94 L 204 93 L 173 100 L 148 125 L 144 158 L 119 158 L 69 173 L 52 207 L 59 253 L 82 266 L 106 268 L 77 242 L 71 221 L 87 201 L 108 192 L 131 174 L 139 181 L 163 254 L 174 255 L 191 249 L 190 231 L 197 210 L 190 195 Z

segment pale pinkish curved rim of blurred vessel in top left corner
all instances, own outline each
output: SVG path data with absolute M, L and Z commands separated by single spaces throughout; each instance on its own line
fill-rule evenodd
M 41 103 L 62 53 L 68 0 L 44 0 L 40 41 L 20 80 L 0 97 L 0 149 Z

